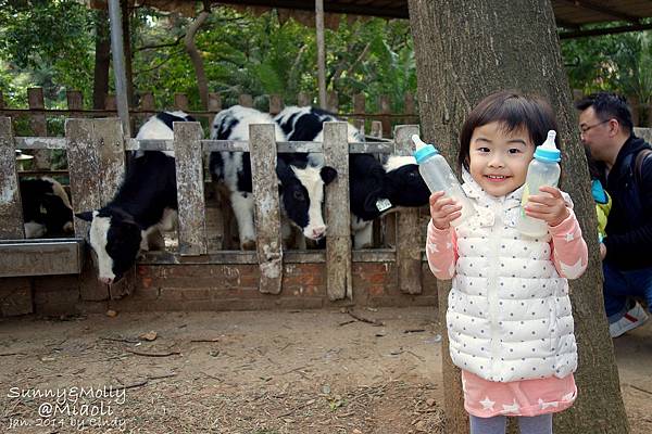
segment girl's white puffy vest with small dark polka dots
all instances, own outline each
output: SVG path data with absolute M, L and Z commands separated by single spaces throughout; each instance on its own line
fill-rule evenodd
M 447 312 L 453 362 L 497 382 L 568 375 L 577 346 L 568 282 L 551 258 L 550 234 L 535 240 L 515 229 L 522 189 L 497 199 L 468 174 L 464 179 L 478 215 L 456 228 Z

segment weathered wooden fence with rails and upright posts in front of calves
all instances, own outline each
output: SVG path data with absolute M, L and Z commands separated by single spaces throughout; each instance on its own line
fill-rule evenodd
M 175 152 L 178 197 L 178 250 L 149 253 L 140 264 L 211 265 L 258 264 L 259 290 L 281 291 L 284 263 L 324 264 L 329 299 L 352 297 L 352 261 L 396 263 L 401 291 L 422 292 L 422 229 L 418 209 L 402 210 L 397 224 L 396 248 L 351 248 L 349 208 L 349 153 L 411 153 L 410 137 L 417 126 L 398 126 L 394 141 L 347 142 L 347 123 L 326 123 L 324 142 L 275 142 L 272 125 L 252 125 L 250 141 L 202 140 L 199 123 L 175 123 L 174 140 L 125 139 L 116 118 L 68 118 L 65 137 L 14 137 L 12 123 L 0 117 L 0 238 L 22 239 L 23 219 L 14 149 L 64 150 L 67 153 L 74 212 L 99 208 L 111 200 L 125 170 L 125 151 L 168 150 Z M 213 151 L 251 153 L 255 202 L 256 252 L 209 252 L 204 207 L 202 157 Z M 280 208 L 274 167 L 277 152 L 323 152 L 339 174 L 327 186 L 325 251 L 284 251 L 280 242 Z M 274 179 L 273 182 L 271 180 Z M 75 235 L 87 237 L 88 224 L 75 219 Z M 34 257 L 38 267 L 38 257 Z

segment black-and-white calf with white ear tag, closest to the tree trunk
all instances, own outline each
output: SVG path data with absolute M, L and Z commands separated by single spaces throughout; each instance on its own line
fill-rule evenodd
M 289 106 L 274 120 L 288 140 L 323 141 L 323 123 L 341 120 L 321 108 Z M 364 141 L 364 136 L 348 124 L 349 142 Z M 372 221 L 398 207 L 423 206 L 429 190 L 412 156 L 385 156 L 383 164 L 371 154 L 349 156 L 349 195 L 353 247 L 372 245 Z

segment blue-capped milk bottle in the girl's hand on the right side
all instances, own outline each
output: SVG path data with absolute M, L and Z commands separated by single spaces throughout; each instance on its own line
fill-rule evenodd
M 523 197 L 521 199 L 521 218 L 516 224 L 516 229 L 524 235 L 543 237 L 548 232 L 548 224 L 541 219 L 532 218 L 525 215 L 525 205 L 529 200 L 530 194 L 539 194 L 539 188 L 542 186 L 556 187 L 560 180 L 561 152 L 554 144 L 556 132 L 548 131 L 548 138 L 535 151 L 535 157 L 527 168 L 525 178 L 525 188 Z

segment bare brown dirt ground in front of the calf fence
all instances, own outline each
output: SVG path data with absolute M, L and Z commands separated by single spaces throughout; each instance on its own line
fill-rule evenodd
M 436 310 L 353 316 L 1 320 L 0 432 L 442 433 Z M 634 434 L 652 432 L 652 321 L 641 329 L 615 342 Z

